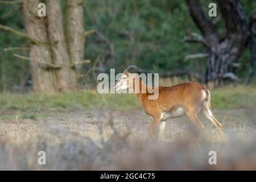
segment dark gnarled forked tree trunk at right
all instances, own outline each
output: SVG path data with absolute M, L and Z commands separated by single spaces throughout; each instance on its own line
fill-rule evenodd
M 242 55 L 249 39 L 249 26 L 246 15 L 238 0 L 218 1 L 222 18 L 225 20 L 226 35 L 221 39 L 216 27 L 204 14 L 198 0 L 186 0 L 197 27 L 204 36 L 209 52 L 209 61 L 205 74 L 205 82 L 217 86 L 221 80 L 229 78 L 236 80 L 234 63 Z

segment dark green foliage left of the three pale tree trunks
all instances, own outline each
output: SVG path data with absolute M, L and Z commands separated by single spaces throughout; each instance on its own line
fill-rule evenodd
M 18 9 L 19 6 L 19 9 Z M 12 10 L 18 9 L 10 13 Z M 0 24 L 24 32 L 22 9 L 20 5 L 0 5 Z M 20 84 L 20 77 L 28 68 L 27 61 L 19 60 L 13 53 L 27 56 L 27 51 L 4 52 L 8 47 L 28 47 L 27 40 L 0 30 L 0 90 L 13 90 Z

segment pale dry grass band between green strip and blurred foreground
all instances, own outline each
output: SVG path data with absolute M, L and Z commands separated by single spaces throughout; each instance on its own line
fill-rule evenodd
M 214 110 L 214 115 L 222 123 L 228 136 L 250 138 L 256 137 L 256 113 L 253 110 Z M 212 135 L 212 140 L 223 139 L 213 124 L 199 114 L 205 126 L 204 133 Z M 48 113 L 47 116 L 34 119 L 0 119 L 0 137 L 9 137 L 11 142 L 24 143 L 43 133 L 78 134 L 94 140 L 109 138 L 113 134 L 111 123 L 119 133 L 130 133 L 136 137 L 145 136 L 151 124 L 151 118 L 141 109 L 118 111 L 93 109 L 87 111 L 70 111 L 67 113 Z M 170 141 L 189 133 L 191 122 L 187 117 L 168 119 L 164 131 L 164 141 Z M 102 131 L 101 131 L 102 130 Z M 53 134 L 54 135 L 54 134 Z M 209 137 L 208 136 L 208 137 Z M 145 136 L 146 137 L 146 136 Z M 52 142 L 57 142 L 52 140 Z

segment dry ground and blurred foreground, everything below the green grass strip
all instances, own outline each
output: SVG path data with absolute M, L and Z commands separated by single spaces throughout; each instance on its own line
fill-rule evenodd
M 164 138 L 158 142 L 147 140 L 147 129 L 151 119 L 141 109 L 128 111 L 92 109 L 48 113 L 44 117 L 37 118 L 36 121 L 28 118 L 1 119 L 0 169 L 253 169 L 256 167 L 256 115 L 253 110 L 214 110 L 214 114 L 224 126 L 225 135 L 220 135 L 212 123 L 200 115 L 206 127 L 203 133 L 193 130 L 186 117 L 175 118 L 167 121 Z M 199 148 L 195 149 L 195 147 Z M 170 154 L 165 148 L 170 150 Z M 40 150 L 46 151 L 46 166 L 37 163 L 37 152 Z M 147 154 L 147 157 L 141 154 L 142 151 L 147 150 L 152 153 Z M 220 166 L 207 164 L 208 152 L 212 150 L 218 151 L 221 158 L 225 159 L 218 160 Z M 203 156 L 198 156 L 195 151 Z M 131 156 L 133 153 L 139 165 L 134 161 L 134 156 Z M 156 157 L 160 154 L 162 157 Z M 180 156 L 181 154 L 184 156 Z M 123 162 L 115 159 L 115 157 L 122 159 L 122 155 L 127 157 Z M 169 155 L 172 156 L 171 159 L 164 161 L 166 156 L 170 157 Z M 152 156 L 156 157 L 156 162 L 150 162 L 151 166 L 147 166 L 144 160 Z M 243 159 L 245 157 L 246 159 Z M 188 158 L 186 159 L 188 162 L 184 163 L 183 158 Z M 240 160 L 242 164 L 236 164 Z M 226 161 L 226 164 L 222 161 Z M 251 164 L 253 161 L 254 163 Z

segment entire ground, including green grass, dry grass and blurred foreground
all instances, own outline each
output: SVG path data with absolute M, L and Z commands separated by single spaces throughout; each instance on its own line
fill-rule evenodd
M 205 131 L 187 117 L 169 119 L 164 138 L 133 96 L 95 92 L 0 94 L 0 169 L 255 169 L 256 90 L 212 90 L 224 135 L 203 115 Z M 46 165 L 38 152 L 46 152 Z M 209 152 L 217 164 L 210 165 Z

